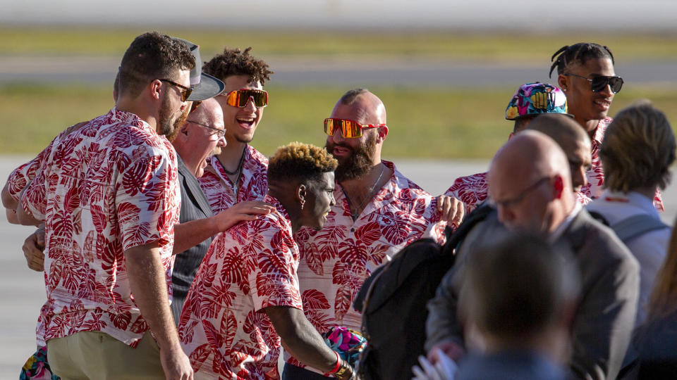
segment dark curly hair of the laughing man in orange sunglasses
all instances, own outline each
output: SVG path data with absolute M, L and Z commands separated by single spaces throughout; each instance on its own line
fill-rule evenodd
M 245 51 L 240 49 L 224 48 L 224 53 L 214 56 L 209 62 L 202 66 L 202 72 L 226 81 L 226 77 L 231 75 L 249 75 L 250 82 L 261 82 L 263 86 L 270 75 L 274 74 L 269 70 L 268 64 L 261 59 L 249 55 L 252 46 Z

